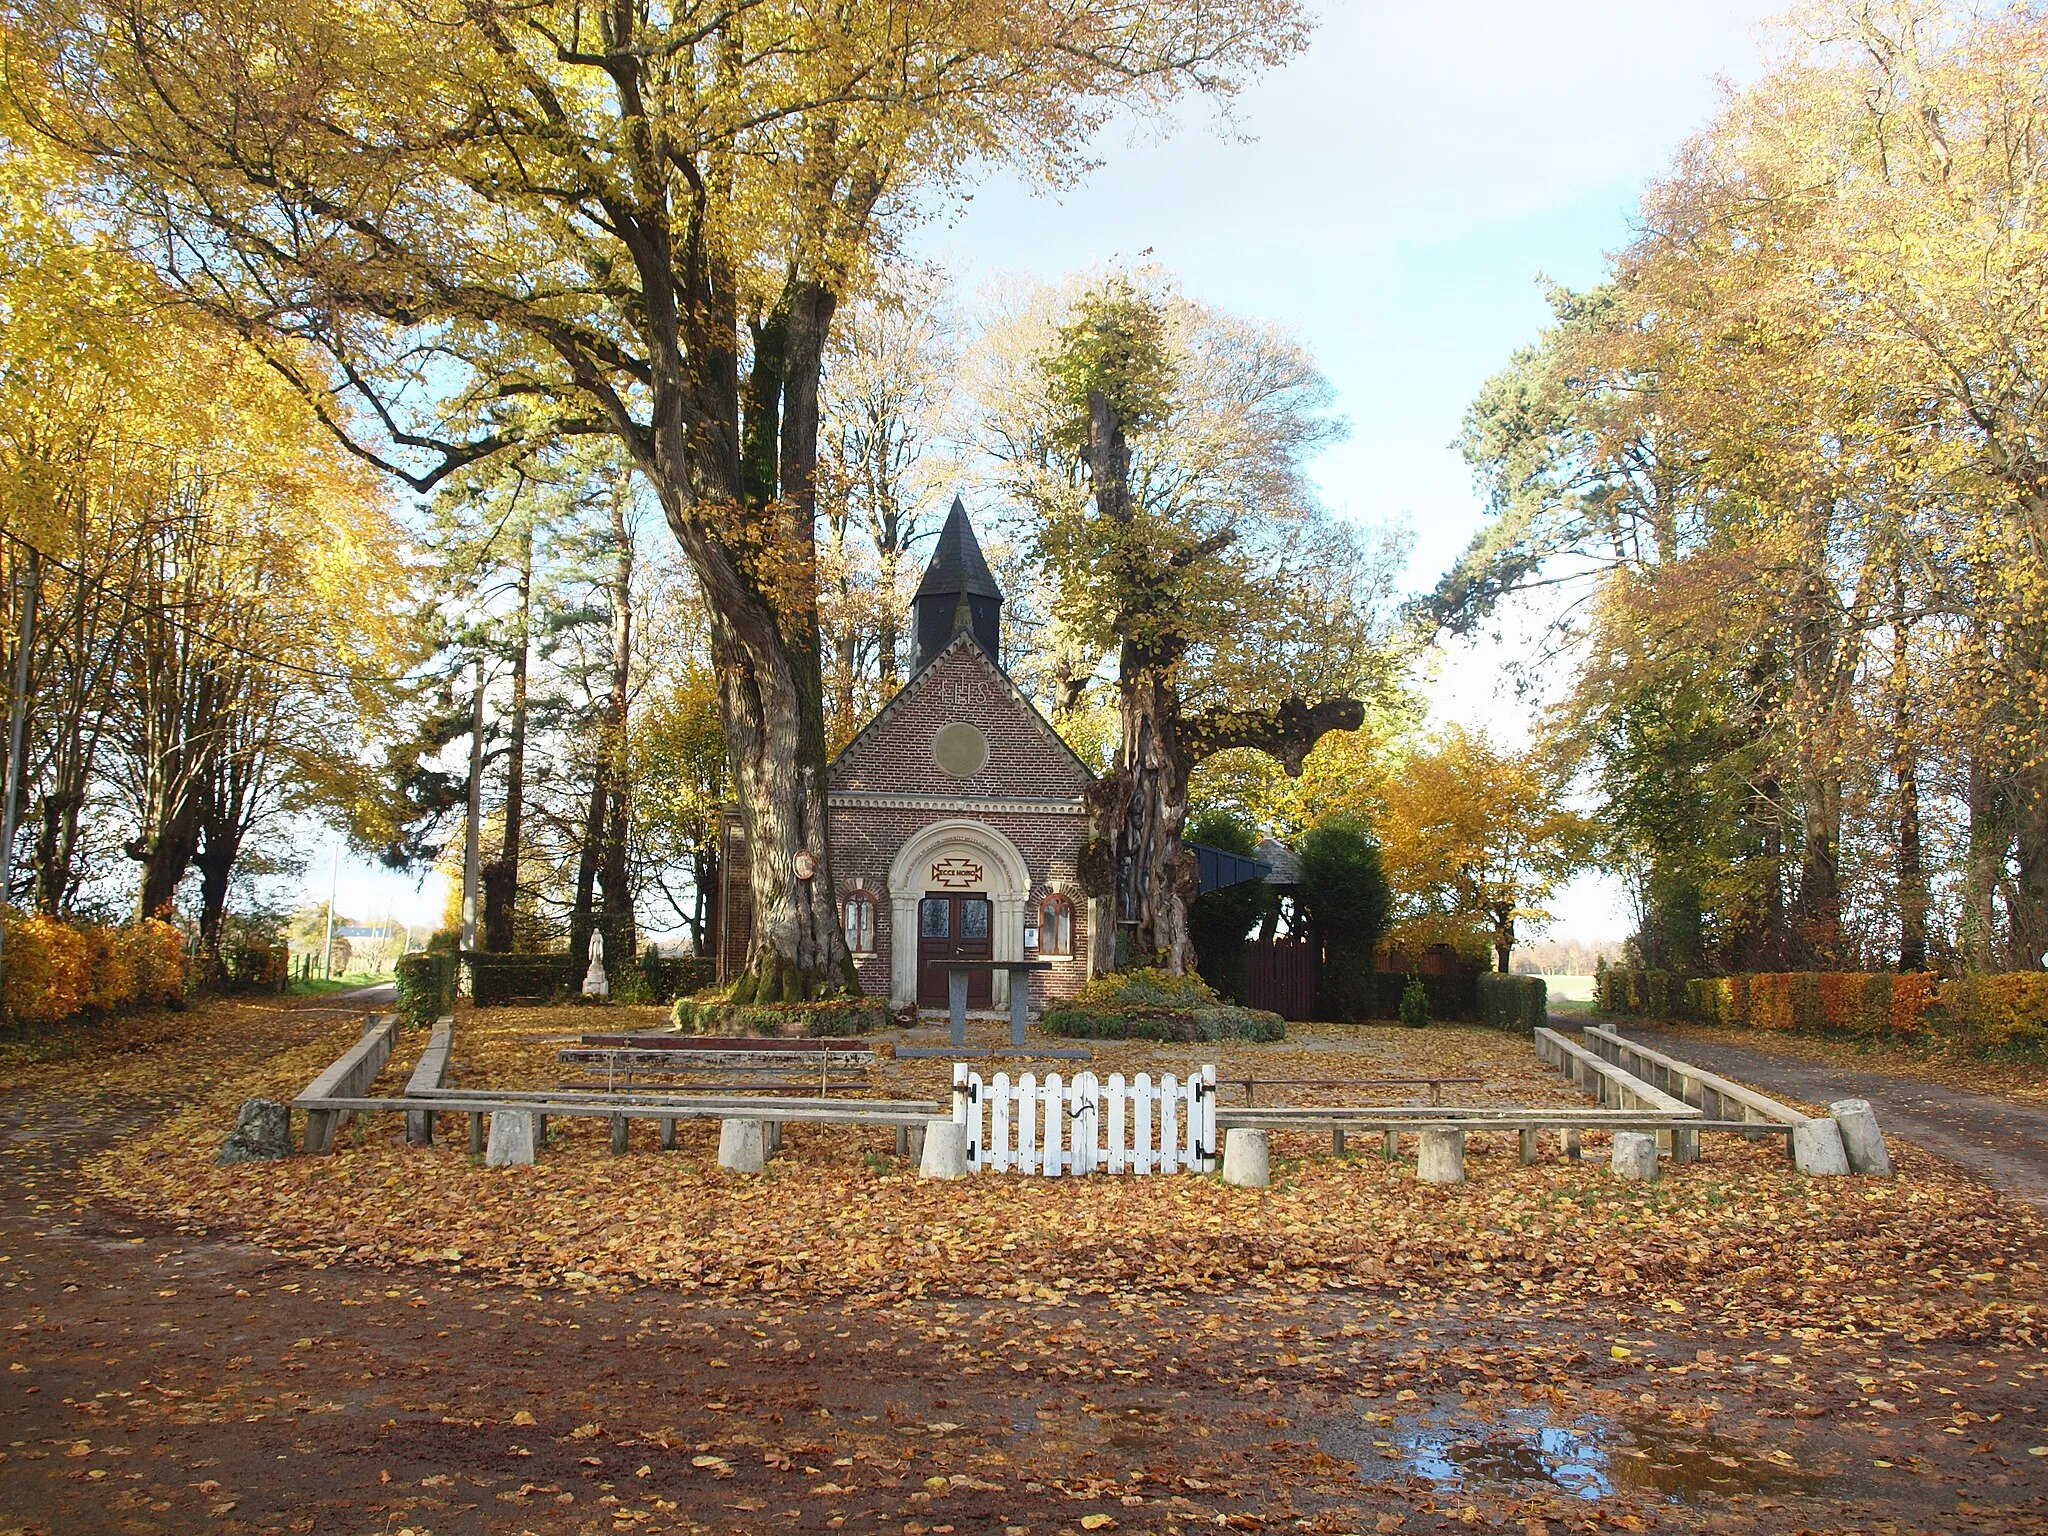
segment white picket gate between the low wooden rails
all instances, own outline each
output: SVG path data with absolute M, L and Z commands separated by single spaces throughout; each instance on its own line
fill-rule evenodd
M 1081 1071 L 981 1073 L 952 1065 L 952 1118 L 967 1126 L 969 1171 L 997 1174 L 1206 1174 L 1217 1165 L 1217 1069 L 1196 1067 L 1186 1081 L 1139 1073 L 1108 1081 Z

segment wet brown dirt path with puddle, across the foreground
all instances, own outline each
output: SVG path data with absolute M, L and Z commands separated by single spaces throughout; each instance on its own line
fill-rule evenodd
M 332 1024 L 246 1012 L 182 1061 Z M 6 1536 L 2048 1522 L 2044 1362 L 1968 1337 L 1866 1360 L 1509 1288 L 805 1309 L 315 1268 L 78 1194 L 174 1098 L 0 1094 Z

